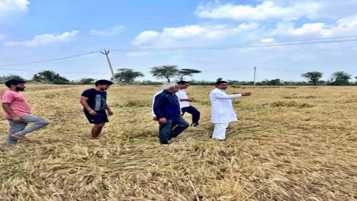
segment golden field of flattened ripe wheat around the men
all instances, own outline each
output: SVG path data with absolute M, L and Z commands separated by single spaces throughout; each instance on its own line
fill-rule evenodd
M 356 87 L 231 87 L 253 95 L 233 100 L 240 120 L 225 142 L 210 139 L 212 86 L 190 87 L 201 126 L 169 146 L 150 114 L 160 86 L 109 89 L 115 116 L 96 141 L 79 104 L 89 87 L 27 85 L 33 113 L 51 124 L 9 149 L 0 121 L 1 200 L 357 200 Z

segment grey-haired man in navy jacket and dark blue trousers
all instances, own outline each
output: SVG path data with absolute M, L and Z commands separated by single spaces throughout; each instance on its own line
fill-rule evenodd
M 155 97 L 153 109 L 160 125 L 161 144 L 168 144 L 190 126 L 181 116 L 180 101 L 175 95 L 179 89 L 176 83 L 166 83 L 164 91 Z

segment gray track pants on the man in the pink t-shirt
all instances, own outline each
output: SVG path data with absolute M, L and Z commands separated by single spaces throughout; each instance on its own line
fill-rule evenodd
M 7 140 L 6 140 L 7 146 L 15 145 L 17 142 L 17 139 L 9 138 L 9 136 L 11 136 L 12 134 L 25 136 L 27 133 L 36 131 L 37 129 L 43 128 L 48 124 L 50 124 L 50 122 L 46 121 L 45 119 L 42 119 L 41 117 L 36 117 L 31 114 L 26 114 L 20 117 L 20 119 L 22 122 L 14 122 L 12 121 L 12 119 L 7 119 L 9 120 L 9 126 L 10 126 L 10 133 L 7 134 Z M 29 123 L 32 123 L 34 125 L 26 128 L 27 124 Z

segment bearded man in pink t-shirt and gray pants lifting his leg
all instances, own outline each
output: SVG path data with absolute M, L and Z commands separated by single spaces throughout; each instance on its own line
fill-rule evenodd
M 41 117 L 31 114 L 26 98 L 20 94 L 25 90 L 25 81 L 11 79 L 5 83 L 9 90 L 1 95 L 4 117 L 9 121 L 10 133 L 7 134 L 7 146 L 16 144 L 17 140 L 30 141 L 25 135 L 49 124 Z M 26 128 L 27 124 L 34 124 Z M 25 129 L 26 128 L 26 129 Z

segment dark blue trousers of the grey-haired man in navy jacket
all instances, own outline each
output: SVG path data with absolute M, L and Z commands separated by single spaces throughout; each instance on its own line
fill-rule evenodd
M 177 137 L 180 133 L 186 130 L 190 125 L 182 117 L 175 119 L 167 119 L 167 123 L 160 123 L 160 143 L 168 144 L 173 137 Z

